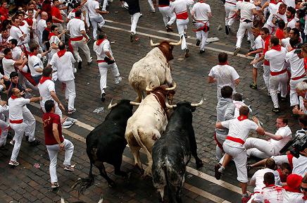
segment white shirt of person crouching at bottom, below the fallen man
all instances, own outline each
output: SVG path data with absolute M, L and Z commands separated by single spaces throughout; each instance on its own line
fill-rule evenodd
M 282 185 L 281 181 L 280 181 L 280 173 L 278 173 L 277 171 L 274 171 L 270 168 L 263 168 L 260 169 L 258 171 L 256 171 L 256 173 L 253 173 L 253 177 L 251 177 L 251 183 L 255 183 L 256 187 L 253 188 L 253 192 L 261 192 L 262 188 L 265 187 L 264 183 L 263 183 L 263 176 L 265 173 L 271 172 L 274 174 L 275 176 L 275 185 Z

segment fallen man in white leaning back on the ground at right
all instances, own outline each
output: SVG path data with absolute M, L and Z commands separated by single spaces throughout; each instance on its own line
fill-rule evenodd
M 246 148 L 247 157 L 255 156 L 260 159 L 270 158 L 270 156 L 280 155 L 280 149 L 292 140 L 292 132 L 288 126 L 288 119 L 284 116 L 279 116 L 276 119 L 277 131 L 275 134 L 265 132 L 265 135 L 270 137 L 266 141 L 254 137 L 246 139 L 244 147 Z

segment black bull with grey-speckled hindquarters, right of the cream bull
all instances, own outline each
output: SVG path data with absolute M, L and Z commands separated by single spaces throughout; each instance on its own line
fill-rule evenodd
M 203 162 L 197 156 L 197 145 L 192 126 L 192 112 L 201 104 L 203 104 L 203 98 L 198 104 L 184 101 L 168 106 L 175 111 L 170 116 L 165 133 L 152 149 L 152 180 L 153 186 L 160 193 L 160 202 L 163 202 L 165 186 L 168 187 L 169 202 L 182 202 L 184 174 L 191 154 L 196 160 L 196 166 L 203 166 Z

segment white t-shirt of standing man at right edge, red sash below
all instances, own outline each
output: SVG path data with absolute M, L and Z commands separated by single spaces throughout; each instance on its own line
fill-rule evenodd
M 306 74 L 303 59 L 299 59 L 299 56 L 294 54 L 294 51 L 295 49 L 289 51 L 285 59 L 286 63 L 290 64 L 291 78 L 296 78 Z

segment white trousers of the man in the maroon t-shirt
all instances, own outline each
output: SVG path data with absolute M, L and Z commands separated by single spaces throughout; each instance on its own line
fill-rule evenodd
M 60 146 L 58 144 L 54 145 L 46 145 L 47 151 L 49 154 L 50 165 L 49 165 L 49 173 L 51 183 L 58 182 L 58 176 L 56 176 L 56 164 L 58 161 L 58 152 L 60 151 Z M 64 139 L 64 149 L 65 149 L 65 159 L 63 162 L 64 166 L 70 166 L 70 160 L 73 156 L 73 143 L 69 140 Z

